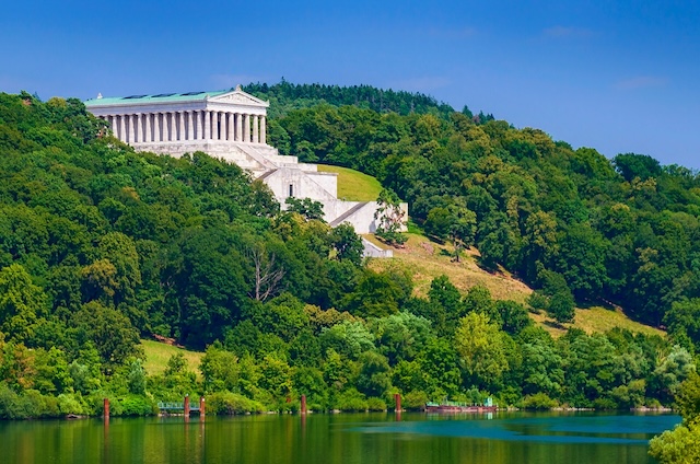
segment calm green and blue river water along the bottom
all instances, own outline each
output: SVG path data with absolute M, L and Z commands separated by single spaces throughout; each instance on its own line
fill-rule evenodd
M 0 422 L 2 463 L 653 463 L 678 416 L 266 415 Z

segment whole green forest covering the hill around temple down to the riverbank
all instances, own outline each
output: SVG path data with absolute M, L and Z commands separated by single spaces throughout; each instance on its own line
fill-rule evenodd
M 373 271 L 360 239 L 282 211 L 235 165 L 136 153 L 75 98 L 0 94 L 0 418 L 149 415 L 206 394 L 219 414 L 670 405 L 700 347 L 700 179 L 649 155 L 608 160 L 539 129 L 369 86 L 250 84 L 270 144 L 377 177 L 417 228 L 536 291 L 527 305 L 425 298 Z M 387 195 L 388 195 L 387 194 Z M 668 337 L 580 329 L 529 311 L 620 305 Z M 206 350 L 143 369 L 141 338 Z

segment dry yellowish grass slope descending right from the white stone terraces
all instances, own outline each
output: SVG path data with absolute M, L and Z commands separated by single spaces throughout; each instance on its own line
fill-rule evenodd
M 408 237 L 404 248 L 394 250 L 394 258 L 372 259 L 370 267 L 374 270 L 394 268 L 409 272 L 413 278 L 415 294 L 418 297 L 425 297 L 430 290 L 431 281 L 443 274 L 462 292 L 481 285 L 488 288 L 497 300 L 514 300 L 518 303 L 525 303 L 527 295 L 533 292 L 529 287 L 514 279 L 506 271 L 490 274 L 481 269 L 477 265 L 478 252 L 476 250 L 465 252 L 460 262 L 455 263 L 451 256 L 452 247 L 450 245 L 431 242 L 428 237 L 416 233 L 409 233 Z M 373 235 L 365 235 L 365 239 L 380 243 Z M 576 309 L 574 323 L 563 325 L 550 320 L 544 313 L 530 313 L 530 316 L 553 336 L 564 334 L 570 326 L 579 327 L 588 334 L 620 327 L 631 332 L 665 336 L 663 330 L 631 321 L 620 309 L 600 306 Z

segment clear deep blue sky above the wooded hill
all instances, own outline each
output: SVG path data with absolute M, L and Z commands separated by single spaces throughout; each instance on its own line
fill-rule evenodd
M 371 84 L 700 169 L 700 1 L 8 1 L 0 91 Z

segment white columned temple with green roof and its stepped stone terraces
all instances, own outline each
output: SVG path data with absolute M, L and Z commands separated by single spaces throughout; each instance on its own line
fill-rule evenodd
M 311 198 L 324 205 L 325 219 L 334 227 L 350 222 L 358 233 L 376 230 L 375 201 L 339 200 L 336 174 L 319 172 L 316 164 L 300 163 L 296 156 L 280 155 L 267 143 L 269 103 L 241 86 L 217 92 L 98 95 L 84 103 L 88 111 L 109 123 L 115 137 L 136 150 L 173 156 L 203 151 L 248 170 L 270 187 L 282 206 L 288 197 Z

